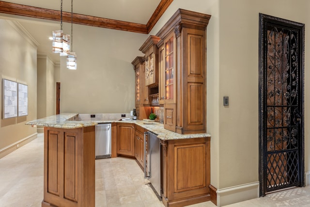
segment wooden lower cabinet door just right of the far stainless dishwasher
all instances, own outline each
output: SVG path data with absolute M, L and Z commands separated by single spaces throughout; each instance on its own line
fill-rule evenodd
M 135 157 L 135 124 L 117 123 L 117 154 Z

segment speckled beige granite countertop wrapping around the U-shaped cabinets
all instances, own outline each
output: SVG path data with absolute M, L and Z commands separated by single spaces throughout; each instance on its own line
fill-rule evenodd
M 38 127 L 55 127 L 55 128 L 80 128 L 94 126 L 100 123 L 131 123 L 139 125 L 148 131 L 157 134 L 157 138 L 161 140 L 178 140 L 178 139 L 190 139 L 190 138 L 201 138 L 211 137 L 208 133 L 201 134 L 178 134 L 173 131 L 164 128 L 163 124 L 158 122 L 147 122 L 143 120 L 113 120 L 111 118 L 102 120 L 86 120 L 86 121 L 75 121 L 77 120 L 78 113 L 61 113 L 53 116 L 49 116 L 42 119 L 33 120 L 27 122 L 26 125 L 38 126 Z

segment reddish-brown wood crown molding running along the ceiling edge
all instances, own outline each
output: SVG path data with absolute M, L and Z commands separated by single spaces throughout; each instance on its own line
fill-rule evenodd
M 167 10 L 172 1 L 173 0 L 161 0 L 146 25 L 81 14 L 73 14 L 73 23 L 93 27 L 122 30 L 127 32 L 148 34 L 153 29 L 158 19 Z M 0 1 L 0 13 L 60 21 L 61 12 L 52 9 L 44 9 L 40 7 Z M 70 23 L 71 13 L 62 12 L 62 21 Z

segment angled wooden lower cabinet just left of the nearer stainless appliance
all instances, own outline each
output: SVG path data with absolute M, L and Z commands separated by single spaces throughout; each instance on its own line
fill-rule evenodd
M 144 128 L 136 125 L 135 157 L 144 168 Z

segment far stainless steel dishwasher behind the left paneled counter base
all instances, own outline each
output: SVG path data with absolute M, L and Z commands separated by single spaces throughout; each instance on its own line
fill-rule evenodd
M 95 159 L 111 157 L 111 124 L 95 127 Z

